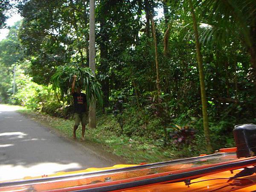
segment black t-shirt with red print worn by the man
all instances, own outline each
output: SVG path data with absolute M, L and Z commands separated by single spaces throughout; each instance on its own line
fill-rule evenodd
M 84 93 L 73 93 L 75 113 L 87 111 L 86 95 Z

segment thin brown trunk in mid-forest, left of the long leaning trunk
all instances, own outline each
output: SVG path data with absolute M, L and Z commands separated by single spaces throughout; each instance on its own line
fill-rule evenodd
M 159 78 L 159 64 L 158 64 L 158 55 L 157 55 L 157 36 L 156 36 L 156 26 L 154 23 L 154 18 L 151 15 L 151 13 L 149 14 L 150 19 L 151 19 L 151 24 L 152 24 L 152 35 L 154 38 L 154 47 L 155 47 L 155 60 L 156 60 L 156 71 L 157 71 L 157 81 L 156 81 L 156 85 L 157 85 L 157 99 L 160 99 L 160 94 L 161 94 L 161 89 L 160 89 L 160 78 Z

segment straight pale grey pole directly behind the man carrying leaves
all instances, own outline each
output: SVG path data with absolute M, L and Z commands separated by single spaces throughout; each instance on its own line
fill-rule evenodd
M 90 0 L 89 67 L 95 75 L 95 0 Z M 96 128 L 96 102 L 89 107 L 89 127 Z

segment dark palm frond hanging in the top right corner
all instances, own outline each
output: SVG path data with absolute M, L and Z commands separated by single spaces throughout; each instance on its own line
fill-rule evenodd
M 256 20 L 255 0 L 204 0 L 197 6 L 205 9 L 209 22 L 226 26 L 227 30 L 230 30 L 230 26 L 231 29 L 235 28 L 243 36 L 244 43 L 251 46 L 250 27 L 255 25 Z

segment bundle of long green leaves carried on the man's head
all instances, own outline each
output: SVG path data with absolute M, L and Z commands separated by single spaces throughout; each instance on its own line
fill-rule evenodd
M 76 87 L 79 86 L 81 90 L 86 92 L 88 106 L 94 101 L 97 101 L 99 105 L 102 106 L 101 85 L 88 67 L 57 67 L 55 74 L 51 78 L 52 89 L 55 90 L 55 92 L 59 91 L 63 99 L 65 95 L 70 94 L 74 75 L 77 76 Z

